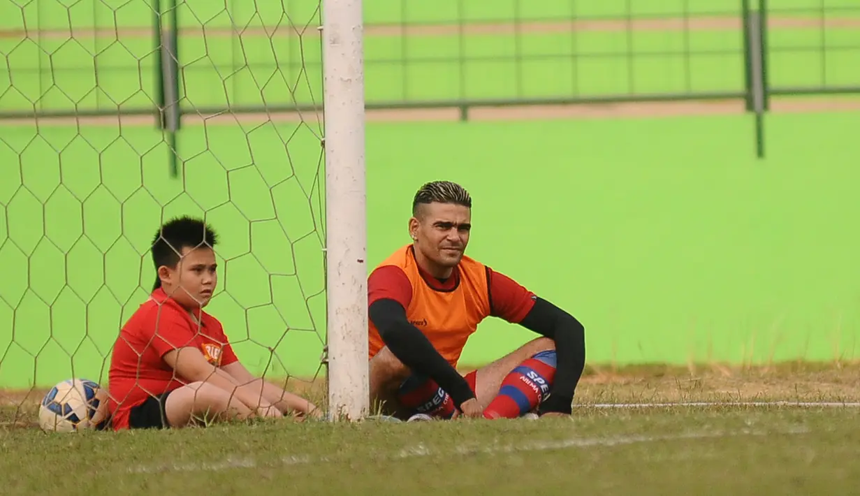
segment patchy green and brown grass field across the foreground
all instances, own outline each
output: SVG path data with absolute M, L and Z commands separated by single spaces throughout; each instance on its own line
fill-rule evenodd
M 856 366 L 591 371 L 572 419 L 0 431 L 4 494 L 810 494 L 857 486 Z M 734 389 L 734 390 L 733 390 Z M 765 391 L 765 393 L 757 393 Z M 717 401 L 701 407 L 600 405 Z M 719 403 L 722 401 L 722 404 Z M 13 454 L 14 455 L 11 455 Z M 72 476 L 71 474 L 74 474 Z

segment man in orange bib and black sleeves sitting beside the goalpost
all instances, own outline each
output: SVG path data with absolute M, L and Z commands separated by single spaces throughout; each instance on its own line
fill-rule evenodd
M 413 242 L 371 273 L 371 400 L 401 419 L 569 415 L 585 366 L 585 329 L 568 312 L 464 256 L 471 206 L 456 183 L 421 187 L 409 219 Z M 528 240 L 503 242 L 535 256 Z M 542 337 L 463 377 L 456 370 L 460 353 L 491 315 Z

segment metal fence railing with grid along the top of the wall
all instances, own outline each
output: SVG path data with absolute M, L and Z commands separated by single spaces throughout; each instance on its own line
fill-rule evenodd
M 286 10 L 90 3 L 0 9 L 0 118 L 158 113 L 171 88 L 186 114 L 321 105 L 315 0 Z M 365 6 L 366 105 L 458 107 L 464 117 L 476 106 L 594 101 L 752 106 L 755 71 L 765 106 L 769 95 L 860 93 L 858 29 L 860 4 L 849 0 L 380 0 Z M 177 54 L 167 57 L 173 71 L 165 52 Z

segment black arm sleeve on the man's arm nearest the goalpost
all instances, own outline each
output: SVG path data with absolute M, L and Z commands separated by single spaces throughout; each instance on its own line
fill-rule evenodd
M 457 407 L 475 397 L 464 377 L 409 323 L 400 303 L 384 298 L 373 302 L 367 311 L 385 346 L 410 370 L 433 378 Z

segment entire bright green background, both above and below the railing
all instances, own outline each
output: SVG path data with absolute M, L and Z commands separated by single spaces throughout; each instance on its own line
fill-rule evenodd
M 197 4 L 206 5 L 187 5 Z M 512 17 L 509 6 L 516 5 L 464 4 L 474 7 L 476 16 L 503 19 Z M 519 3 L 522 16 L 528 16 L 526 4 Z M 537 9 L 528 4 L 527 9 Z M 580 15 L 591 10 L 620 15 L 624 3 L 574 4 L 585 9 Z M 646 10 L 657 4 L 636 3 Z M 26 15 L 37 15 L 42 28 L 68 25 L 69 15 L 59 15 L 57 5 L 34 2 L 21 10 L 7 3 L 0 18 L 6 30 L 21 28 Z M 81 2 L 66 13 L 74 13 L 73 23 L 89 27 L 145 23 L 145 9 L 139 6 L 134 8 L 140 12 L 116 10 L 113 21 L 110 8 L 118 5 Z M 451 15 L 453 3 L 440 3 L 434 13 L 410 7 L 406 14 L 396 9 L 403 3 L 385 9 L 375 5 L 368 21 L 417 22 L 439 21 L 428 17 L 432 14 Z M 683 3 L 673 5 L 668 11 L 679 12 Z M 735 7 L 709 3 L 709 9 Z M 212 15 L 217 18 L 207 25 L 221 22 L 218 9 Z M 273 19 L 274 14 L 266 15 Z M 308 11 L 302 18 L 311 16 Z M 148 105 L 153 87 L 144 62 L 151 40 L 122 33 L 121 43 L 102 34 L 89 41 L 76 34 L 80 44 L 57 35 L 0 39 L 8 61 L 0 68 L 0 111 L 32 109 L 33 102 L 42 110 L 74 108 L 74 102 L 79 108 L 114 110 L 122 101 L 124 108 Z M 775 30 L 771 39 L 784 50 L 777 51 L 782 62 L 774 57 L 773 81 L 860 82 L 860 64 L 851 64 L 860 51 L 851 50 L 850 31 L 827 33 L 832 36 L 821 42 L 814 28 Z M 558 38 L 564 35 L 533 36 L 536 59 L 553 47 L 568 46 L 568 40 Z M 579 36 L 595 47 L 611 47 L 608 56 L 594 58 L 599 63 L 582 72 L 592 83 L 579 90 L 629 89 L 624 83 L 630 81 L 624 72 L 630 70 L 626 34 Z M 694 83 L 688 86 L 687 69 L 679 65 L 685 57 L 678 45 L 683 33 L 637 33 L 636 40 L 650 40 L 636 45 L 642 53 L 636 56 L 641 63 L 633 69 L 635 80 L 646 82 L 639 88 L 740 89 L 739 35 L 703 31 L 695 36 L 703 37 L 702 52 L 710 46 L 722 55 L 692 54 Z M 230 42 L 222 38 L 211 40 Z M 303 81 L 291 72 L 299 59 L 288 57 L 280 64 L 277 51 L 270 50 L 256 69 L 237 72 L 249 77 L 245 83 L 222 84 L 215 91 L 212 81 L 229 81 L 226 74 L 236 69 L 237 60 L 242 65 L 235 52 L 242 44 L 231 42 L 233 52 L 212 45 L 195 54 L 200 41 L 195 40 L 183 42 L 183 61 L 209 69 L 188 70 L 187 107 L 260 101 L 267 79 L 251 78 L 254 70 L 276 76 L 272 88 L 280 89 L 273 89 L 270 102 L 285 103 L 288 87 L 295 84 L 287 82 Z M 247 46 L 261 43 L 250 40 L 245 40 L 245 53 Z M 368 40 L 369 100 L 570 94 L 572 81 L 563 76 L 570 74 L 570 52 L 557 52 L 555 63 L 520 65 L 518 72 L 513 52 L 499 45 L 499 37 L 386 40 L 395 45 Z M 388 57 L 386 51 L 398 43 L 408 44 L 415 58 L 373 62 Z M 105 49 L 102 55 L 94 55 L 98 46 Z M 416 68 L 433 66 L 416 55 L 421 46 L 483 51 L 483 62 L 477 57 L 467 67 L 471 86 L 466 94 L 457 85 L 433 83 L 463 67 L 457 58 L 434 63 L 438 70 L 431 72 L 439 79 L 421 77 Z M 815 50 L 791 52 L 790 46 Z M 293 50 L 295 44 L 284 41 L 283 47 Z M 77 56 L 58 50 L 74 50 Z M 649 50 L 668 54 L 644 56 Z M 219 58 L 228 52 L 233 55 Z M 111 53 L 119 55 L 114 69 L 99 66 L 96 98 L 93 60 Z M 310 62 L 311 70 L 299 76 L 318 82 Z M 488 64 L 507 69 L 494 73 Z M 388 77 L 381 67 L 392 71 Z M 512 86 L 517 74 L 539 77 L 526 91 Z M 318 101 L 319 93 L 314 95 Z M 297 98 L 310 98 L 310 92 Z M 853 164 L 860 144 L 852 130 L 860 128 L 860 118 L 856 113 L 772 114 L 765 161 L 754 158 L 752 126 L 748 116 L 370 123 L 371 266 L 407 241 L 415 188 L 451 179 L 469 188 L 476 202 L 469 253 L 579 317 L 593 364 L 855 358 L 860 315 L 851 262 L 860 239 L 852 225 L 860 213 L 854 198 L 860 177 Z M 321 134 L 316 121 L 189 123 L 179 138 L 184 179 L 175 180 L 168 175 L 164 137 L 150 125 L 37 127 L 33 121 L 0 127 L 0 385 L 49 385 L 71 376 L 106 380 L 116 333 L 151 287 L 151 236 L 163 218 L 181 213 L 206 214 L 222 235 L 223 291 L 210 310 L 224 321 L 240 357 L 261 371 L 272 357 L 271 346 L 275 358 L 268 373 L 314 375 L 325 329 Z M 528 331 L 488 320 L 464 352 L 463 363 L 485 363 L 529 338 Z

